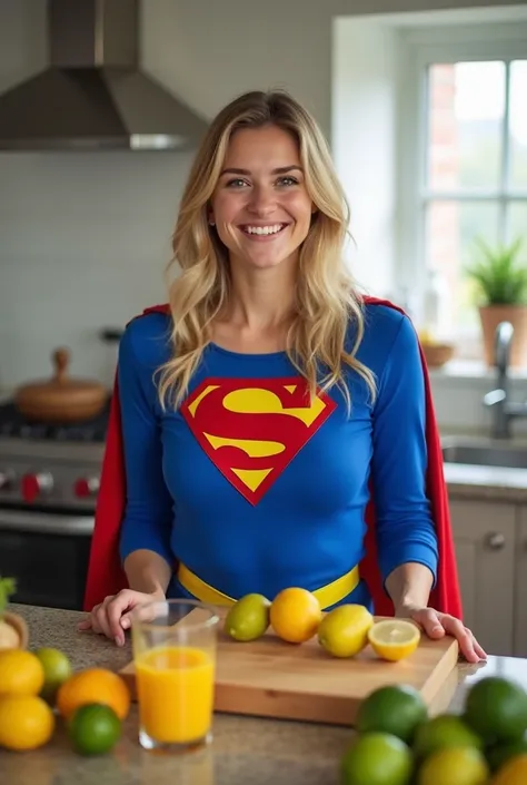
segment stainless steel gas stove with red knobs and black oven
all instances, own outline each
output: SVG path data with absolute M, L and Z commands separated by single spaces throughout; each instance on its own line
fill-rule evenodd
M 13 601 L 81 610 L 109 402 L 93 420 L 29 422 L 0 405 L 0 575 Z

